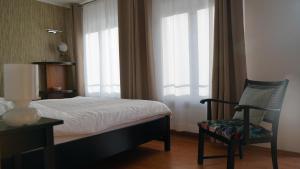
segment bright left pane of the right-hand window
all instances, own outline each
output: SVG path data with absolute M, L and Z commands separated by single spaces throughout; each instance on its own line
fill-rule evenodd
M 187 13 L 162 18 L 164 96 L 190 94 L 188 19 Z

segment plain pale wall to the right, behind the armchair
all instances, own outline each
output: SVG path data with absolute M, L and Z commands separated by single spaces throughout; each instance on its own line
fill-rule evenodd
M 279 148 L 300 152 L 300 0 L 244 0 L 248 77 L 288 78 Z

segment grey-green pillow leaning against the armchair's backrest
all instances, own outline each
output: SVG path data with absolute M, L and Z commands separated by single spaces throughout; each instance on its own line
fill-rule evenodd
M 244 90 L 239 105 L 251 105 L 257 107 L 267 107 L 272 97 L 272 89 L 258 88 L 255 86 L 247 86 Z M 265 112 L 261 110 L 250 109 L 250 123 L 259 125 L 264 119 Z M 244 119 L 244 112 L 237 111 L 233 119 Z

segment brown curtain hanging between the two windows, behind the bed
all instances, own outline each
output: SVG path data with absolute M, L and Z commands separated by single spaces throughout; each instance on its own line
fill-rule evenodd
M 119 0 L 121 97 L 153 99 L 149 0 Z

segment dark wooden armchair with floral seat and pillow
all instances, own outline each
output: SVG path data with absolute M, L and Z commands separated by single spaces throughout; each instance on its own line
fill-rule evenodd
M 227 169 L 234 169 L 234 154 L 236 147 L 239 147 L 239 156 L 242 159 L 243 146 L 247 144 L 271 143 L 273 169 L 278 169 L 277 131 L 283 98 L 286 92 L 286 88 L 288 86 L 288 82 L 288 80 L 279 82 L 261 82 L 246 80 L 245 90 L 243 96 L 241 97 L 241 100 L 243 99 L 243 101 L 245 102 L 245 97 L 247 95 L 246 92 L 249 93 L 249 91 L 251 90 L 257 92 L 257 95 L 253 94 L 253 97 L 259 97 L 259 93 L 265 93 L 265 95 L 267 95 L 268 97 L 266 97 L 266 104 L 263 106 L 257 106 L 255 104 L 239 104 L 218 99 L 201 100 L 200 103 L 207 103 L 208 120 L 198 123 L 198 164 L 202 165 L 204 159 L 227 157 Z M 230 104 L 234 106 L 237 112 L 243 112 L 243 119 L 212 120 L 211 106 L 213 102 Z M 251 123 L 251 113 L 254 114 L 254 112 L 263 113 L 263 121 L 272 124 L 272 131 L 265 129 L 258 124 Z M 205 134 L 227 144 L 227 156 L 204 156 Z

